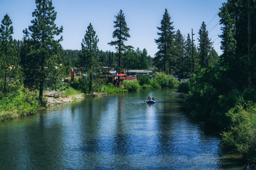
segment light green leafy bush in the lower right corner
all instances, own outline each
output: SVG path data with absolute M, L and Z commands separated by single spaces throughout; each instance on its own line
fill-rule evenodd
M 256 104 L 237 104 L 227 112 L 231 124 L 222 132 L 223 143 L 235 147 L 252 162 L 256 161 Z

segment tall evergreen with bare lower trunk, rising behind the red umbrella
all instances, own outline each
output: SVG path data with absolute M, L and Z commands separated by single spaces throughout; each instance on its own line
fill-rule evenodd
M 125 41 L 127 41 L 127 38 L 130 38 L 129 34 L 129 28 L 127 27 L 126 21 L 125 21 L 125 16 L 123 11 L 120 9 L 119 13 L 117 16 L 115 16 L 116 21 L 114 21 L 114 30 L 113 32 L 113 38 L 116 39 L 114 41 L 111 41 L 108 43 L 110 46 L 116 46 L 117 50 L 117 55 L 118 55 L 118 66 L 121 66 L 121 56 L 124 51 L 133 49 L 132 46 L 126 46 L 124 44 Z

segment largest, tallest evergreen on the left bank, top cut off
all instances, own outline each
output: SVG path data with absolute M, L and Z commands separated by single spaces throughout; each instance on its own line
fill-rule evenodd
M 57 88 L 61 82 L 60 62 L 64 56 L 60 41 L 63 27 L 56 26 L 57 12 L 52 0 L 35 0 L 36 9 L 32 13 L 34 19 L 31 26 L 23 30 L 23 67 L 25 85 L 31 89 L 39 88 L 39 101 L 43 99 L 43 89 Z

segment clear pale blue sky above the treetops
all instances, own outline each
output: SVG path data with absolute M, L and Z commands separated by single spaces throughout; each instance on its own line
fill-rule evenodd
M 144 48 L 154 57 L 158 51 L 154 39 L 158 38 L 157 27 L 168 10 L 174 30 L 178 29 L 187 38 L 193 28 L 197 44 L 198 32 L 204 21 L 214 49 L 221 54 L 218 35 L 221 34 L 219 17 L 216 15 L 226 0 L 52 0 L 57 12 L 56 25 L 63 26 L 63 49 L 80 50 L 81 42 L 91 23 L 99 38 L 99 50 L 115 51 L 112 41 L 114 18 L 123 10 L 131 38 L 125 42 L 135 49 Z M 23 30 L 31 25 L 34 0 L 0 0 L 0 20 L 8 13 L 14 27 L 13 38 L 22 39 Z

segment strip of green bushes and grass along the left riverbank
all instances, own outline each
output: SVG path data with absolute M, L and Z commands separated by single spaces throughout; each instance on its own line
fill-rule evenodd
M 83 93 L 75 81 L 73 84 L 65 84 L 67 86 L 66 93 L 58 98 L 54 98 L 54 103 L 48 107 L 75 101 L 79 98 L 98 97 L 110 93 L 125 93 L 140 90 L 150 90 L 157 88 L 178 88 L 180 84 L 173 76 L 165 75 L 159 72 L 155 74 L 153 80 L 147 75 L 140 76 L 137 80 L 124 81 L 124 87 L 118 88 L 112 84 L 102 84 L 97 91 L 91 93 Z M 96 84 L 96 82 L 94 82 Z M 44 105 L 42 106 L 38 100 L 37 91 L 29 91 L 25 88 L 18 90 L 16 93 L 10 93 L 8 96 L 0 100 L 0 121 L 8 121 L 18 117 L 34 115 L 38 110 L 47 108 L 47 97 L 44 97 Z

